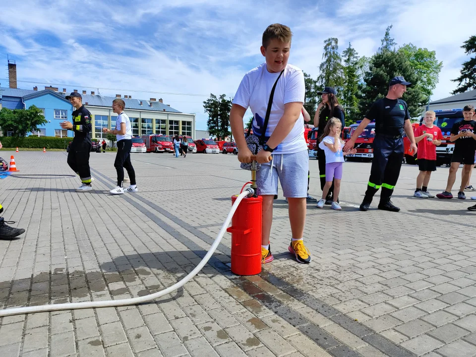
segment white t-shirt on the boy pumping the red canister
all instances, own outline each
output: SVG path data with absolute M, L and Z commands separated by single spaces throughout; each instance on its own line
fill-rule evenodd
M 262 63 L 244 75 L 233 99 L 233 104 L 238 104 L 246 109 L 249 107 L 253 112 L 253 134 L 258 137 L 262 133 L 261 128 L 268 109 L 269 95 L 278 76 L 279 72 L 268 72 L 266 62 Z M 286 65 L 274 92 L 268 127 L 266 128 L 266 139 L 271 136 L 279 120 L 283 117 L 284 105 L 292 102 L 304 103 L 304 92 L 304 74 L 302 71 L 291 64 Z M 301 113 L 291 132 L 275 148 L 274 153 L 294 154 L 303 150 L 307 150 L 307 145 L 304 139 L 304 120 Z

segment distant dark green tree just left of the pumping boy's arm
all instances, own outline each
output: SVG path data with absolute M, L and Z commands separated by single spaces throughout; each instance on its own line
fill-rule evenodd
M 222 94 L 219 98 L 210 94 L 210 98 L 203 102 L 203 109 L 208 114 L 207 129 L 210 136 L 217 137 L 218 140 L 230 136 L 230 110 L 232 100 L 226 99 Z

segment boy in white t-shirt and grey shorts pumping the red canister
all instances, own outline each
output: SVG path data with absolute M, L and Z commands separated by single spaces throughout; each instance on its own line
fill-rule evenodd
M 263 33 L 260 49 L 266 62 L 245 74 L 230 112 L 232 132 L 238 146 L 238 160 L 250 163 L 252 153 L 244 138 L 243 116 L 250 108 L 253 112 L 253 134 L 260 137 L 271 89 L 283 71 L 276 84 L 263 150 L 256 157 L 262 164 L 256 173 L 256 180 L 257 193 L 263 197 L 263 263 L 273 260 L 269 235 L 273 221 L 273 198 L 278 193 L 278 178 L 283 194 L 289 201 L 289 220 L 293 235 L 289 251 L 300 263 L 307 264 L 311 261 L 309 250 L 302 241 L 306 217 L 306 173 L 309 169 L 301 114 L 305 91 L 304 75 L 299 68 L 288 64 L 292 35 L 288 26 L 268 26 Z

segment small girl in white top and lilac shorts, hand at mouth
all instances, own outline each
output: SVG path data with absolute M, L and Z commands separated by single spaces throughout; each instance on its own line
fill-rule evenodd
M 346 152 L 342 151 L 344 141 L 341 139 L 342 123 L 340 119 L 331 118 L 327 121 L 324 129 L 324 134 L 320 137 L 321 142 L 319 148 L 324 150 L 326 154 L 326 184 L 322 190 L 322 198 L 317 202 L 318 208 L 323 208 L 326 202 L 327 192 L 331 188 L 334 180 L 334 195 L 332 209 L 340 211 L 342 208 L 337 202 L 339 199 L 339 191 L 341 190 L 342 169 L 344 164 L 344 156 L 348 154 L 355 154 L 357 149 L 352 149 Z

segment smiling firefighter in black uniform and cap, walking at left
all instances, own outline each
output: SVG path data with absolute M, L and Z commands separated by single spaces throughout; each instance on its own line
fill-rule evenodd
M 76 191 L 90 191 L 91 171 L 89 169 L 89 153 L 91 152 L 91 113 L 83 106 L 82 97 L 79 93 L 71 93 L 66 96 L 75 111 L 73 112 L 73 122 L 63 121 L 60 125 L 63 129 L 74 131 L 74 138 L 68 152 L 68 165 L 79 175 L 81 186 Z

